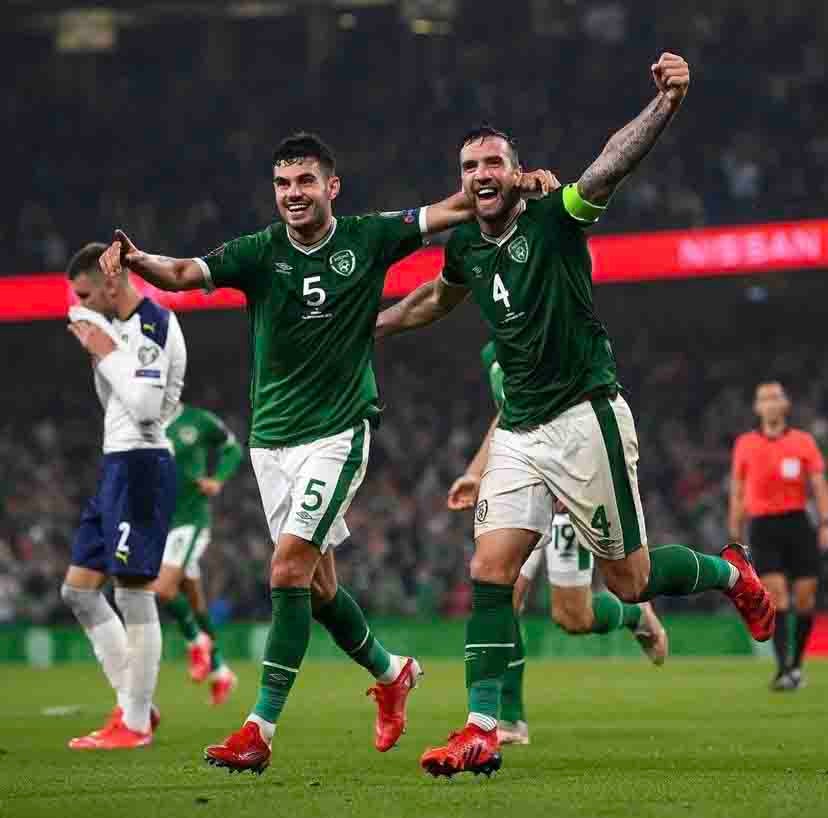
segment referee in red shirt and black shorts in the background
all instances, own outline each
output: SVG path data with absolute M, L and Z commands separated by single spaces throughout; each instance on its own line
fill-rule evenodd
M 825 462 L 811 435 L 788 426 L 791 403 L 782 384 L 760 383 L 753 408 L 759 429 L 740 435 L 733 448 L 730 537 L 741 540 L 749 517 L 756 570 L 776 602 L 773 644 L 779 669 L 771 689 L 796 690 L 814 621 L 820 549 L 828 550 Z M 819 511 L 818 536 L 805 513 L 809 485 Z M 788 644 L 791 603 L 793 646 Z

